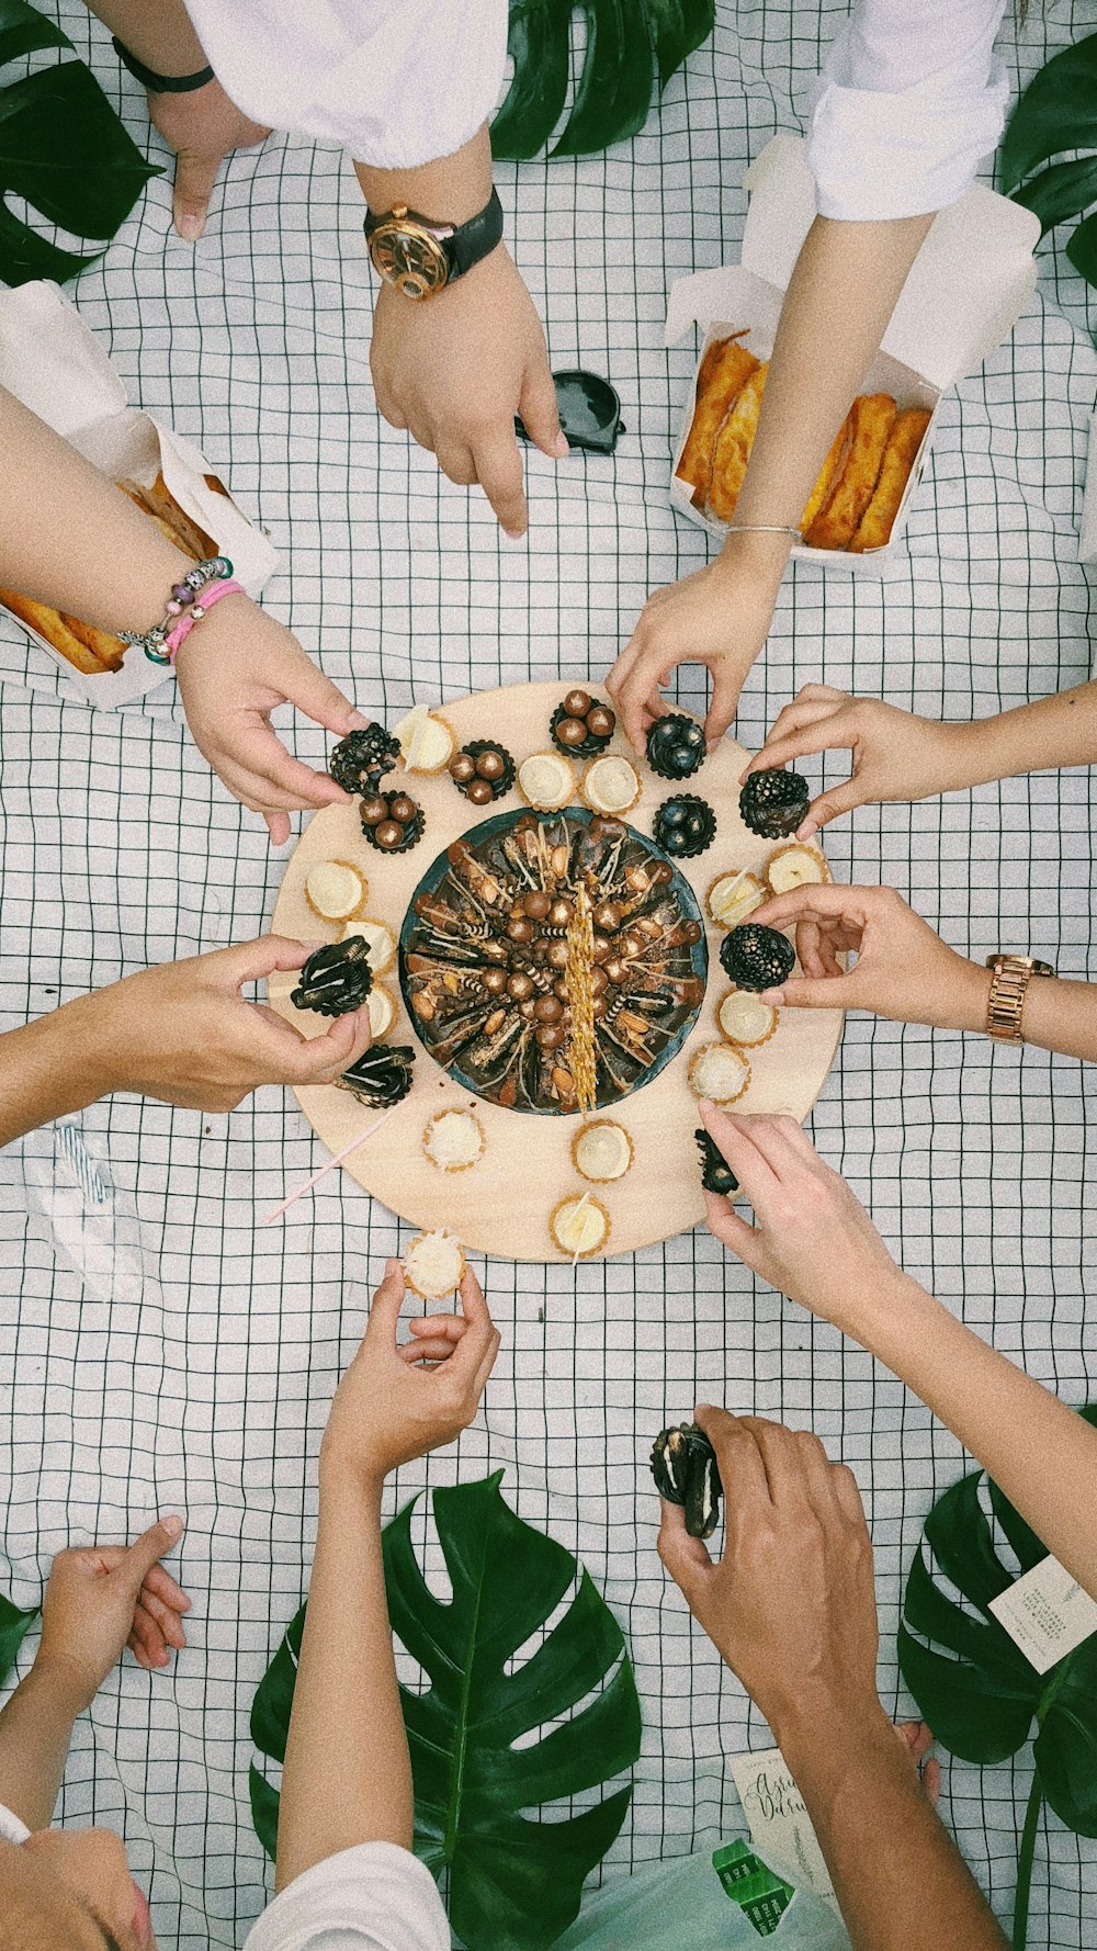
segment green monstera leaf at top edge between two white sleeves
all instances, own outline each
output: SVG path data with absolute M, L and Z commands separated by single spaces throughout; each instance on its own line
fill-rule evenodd
M 584 0 L 586 51 L 554 156 L 636 135 L 652 94 L 711 35 L 714 0 Z M 496 156 L 537 156 L 568 100 L 574 0 L 511 0 L 513 82 L 492 123 Z

